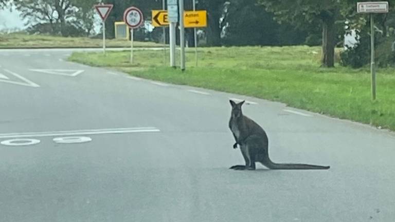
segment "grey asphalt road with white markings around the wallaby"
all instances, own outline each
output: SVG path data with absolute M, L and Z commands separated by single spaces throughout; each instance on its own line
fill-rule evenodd
M 0 50 L 0 221 L 395 220 L 394 134 L 70 53 Z M 331 169 L 228 170 L 243 163 L 229 98 L 250 102 L 274 161 Z

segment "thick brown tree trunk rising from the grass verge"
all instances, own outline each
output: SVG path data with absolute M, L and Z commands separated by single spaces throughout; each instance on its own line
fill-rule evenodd
M 322 67 L 334 67 L 335 59 L 335 18 L 325 16 L 322 19 Z

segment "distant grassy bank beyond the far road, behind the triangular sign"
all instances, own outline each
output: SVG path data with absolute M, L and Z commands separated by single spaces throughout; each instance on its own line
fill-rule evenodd
M 51 35 L 28 35 L 24 33 L 0 33 L 0 48 L 63 48 L 63 47 L 102 47 L 102 39 L 67 38 Z M 127 40 L 106 40 L 107 47 L 130 47 Z M 134 42 L 136 47 L 160 47 L 152 42 Z

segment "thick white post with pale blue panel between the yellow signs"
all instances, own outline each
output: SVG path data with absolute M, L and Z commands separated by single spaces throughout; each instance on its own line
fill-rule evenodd
M 170 38 L 170 66 L 175 68 L 175 26 L 178 22 L 177 0 L 167 0 Z

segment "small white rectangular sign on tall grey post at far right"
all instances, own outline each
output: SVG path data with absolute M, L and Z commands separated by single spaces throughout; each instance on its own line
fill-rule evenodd
M 358 2 L 356 3 L 358 13 L 369 13 L 370 15 L 370 74 L 372 100 L 376 99 L 376 70 L 374 67 L 374 18 L 373 13 L 388 13 L 388 2 Z

